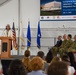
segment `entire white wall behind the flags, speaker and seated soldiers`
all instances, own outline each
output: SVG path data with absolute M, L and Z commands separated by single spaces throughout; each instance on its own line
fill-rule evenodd
M 26 33 L 29 19 L 32 32 L 31 54 L 36 55 L 38 51 L 36 47 L 36 36 L 37 23 L 40 18 L 40 0 L 21 0 L 20 5 L 20 18 L 23 25 L 25 44 L 27 42 Z M 18 0 L 11 0 L 7 4 L 0 7 L 0 28 L 5 28 L 7 23 L 9 23 L 12 27 L 13 19 L 16 28 L 18 28 Z M 43 50 L 46 54 L 48 52 L 48 46 L 54 45 L 54 38 L 51 37 L 57 37 L 58 35 L 63 35 L 64 33 L 72 33 L 75 35 L 76 21 L 41 21 L 40 26 L 42 32 L 41 50 Z M 19 53 L 20 55 L 23 54 L 24 50 L 22 51 L 20 49 Z M 13 51 L 12 54 L 15 54 L 15 51 Z

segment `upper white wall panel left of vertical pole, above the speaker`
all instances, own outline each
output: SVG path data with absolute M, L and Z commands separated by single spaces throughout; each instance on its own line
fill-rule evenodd
M 10 0 L 0 7 L 0 28 L 5 28 L 8 23 L 12 27 L 13 19 L 18 27 L 18 0 Z

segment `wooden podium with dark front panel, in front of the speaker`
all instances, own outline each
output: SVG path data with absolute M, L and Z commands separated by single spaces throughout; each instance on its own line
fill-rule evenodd
M 10 51 L 11 51 L 11 37 L 0 37 L 1 40 L 1 54 L 0 58 L 10 58 Z

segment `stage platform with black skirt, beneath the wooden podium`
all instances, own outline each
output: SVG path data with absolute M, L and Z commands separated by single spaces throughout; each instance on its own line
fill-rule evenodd
M 34 56 L 31 56 L 30 58 L 32 58 L 32 57 L 34 57 Z M 9 65 L 10 65 L 12 60 L 14 60 L 14 59 L 22 60 L 22 58 L 24 58 L 23 55 L 21 55 L 21 56 L 20 55 L 19 56 L 14 55 L 14 56 L 11 56 L 11 58 L 1 58 L 0 60 L 1 60 L 1 63 L 2 63 L 4 75 L 8 75 L 8 68 L 9 68 Z

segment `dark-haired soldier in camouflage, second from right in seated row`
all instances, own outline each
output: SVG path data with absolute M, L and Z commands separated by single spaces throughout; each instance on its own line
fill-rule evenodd
M 64 36 L 66 37 L 66 35 Z M 61 47 L 59 48 L 60 55 L 63 55 L 64 53 L 69 52 L 69 49 L 72 46 L 72 44 L 73 44 L 72 35 L 68 34 L 67 38 L 64 39 Z

